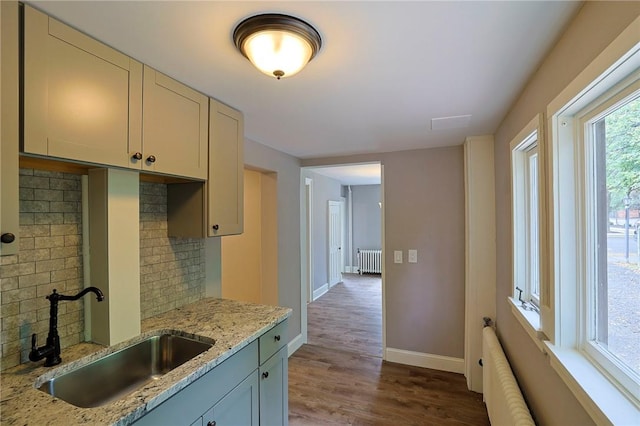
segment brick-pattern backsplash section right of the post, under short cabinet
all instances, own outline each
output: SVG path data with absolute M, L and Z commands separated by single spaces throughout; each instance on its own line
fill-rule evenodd
M 167 237 L 167 186 L 140 184 L 142 319 L 204 297 L 204 240 Z

